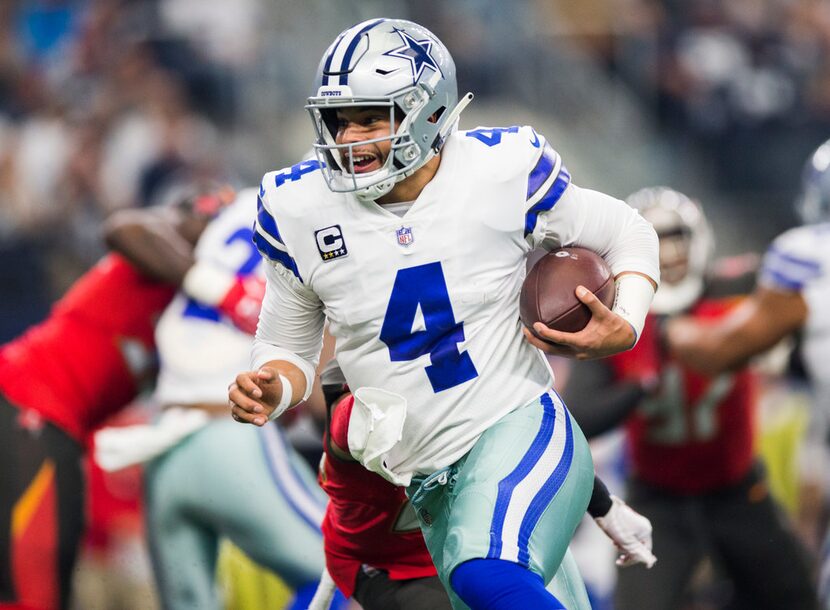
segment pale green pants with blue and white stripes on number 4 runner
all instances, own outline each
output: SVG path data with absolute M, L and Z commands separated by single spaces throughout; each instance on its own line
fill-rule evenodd
M 471 559 L 516 562 L 549 583 L 585 514 L 593 479 L 588 443 L 550 392 L 499 420 L 449 468 L 413 479 L 407 493 L 451 591 L 452 571 Z M 590 607 L 580 605 L 587 603 L 585 587 L 568 563 L 557 590 L 571 592 L 569 609 Z M 455 608 L 466 608 L 451 597 Z

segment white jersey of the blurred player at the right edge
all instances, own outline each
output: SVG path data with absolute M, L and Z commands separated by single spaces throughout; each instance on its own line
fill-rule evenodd
M 804 364 L 830 409 L 830 223 L 805 225 L 778 236 L 764 256 L 759 282 L 800 292 L 807 302 Z

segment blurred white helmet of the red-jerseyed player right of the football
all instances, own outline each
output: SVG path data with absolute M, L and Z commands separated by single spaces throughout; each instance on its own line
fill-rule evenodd
M 666 187 L 639 190 L 626 201 L 660 238 L 660 287 L 651 311 L 671 315 L 687 310 L 703 294 L 715 253 L 703 210 L 683 193 Z

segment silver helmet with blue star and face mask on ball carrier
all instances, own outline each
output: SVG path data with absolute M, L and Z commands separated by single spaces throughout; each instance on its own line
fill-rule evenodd
M 364 200 L 382 197 L 436 155 L 472 99 L 468 93 L 459 103 L 455 63 L 444 44 L 401 19 L 372 19 L 342 32 L 323 54 L 315 82 L 317 94 L 306 109 L 323 176 L 332 191 Z M 389 135 L 337 144 L 337 110 L 366 106 L 388 108 Z M 353 147 L 387 140 L 383 166 L 356 173 Z

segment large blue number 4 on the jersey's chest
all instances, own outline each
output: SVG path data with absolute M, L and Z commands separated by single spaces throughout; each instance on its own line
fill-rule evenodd
M 425 328 L 413 332 L 419 307 Z M 380 340 L 389 347 L 393 362 L 429 354 L 432 364 L 425 370 L 435 392 L 478 377 L 470 355 L 458 351 L 458 344 L 464 341 L 464 323 L 455 321 L 441 263 L 398 271 Z

